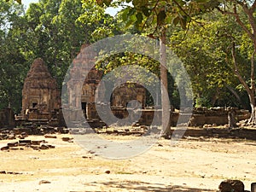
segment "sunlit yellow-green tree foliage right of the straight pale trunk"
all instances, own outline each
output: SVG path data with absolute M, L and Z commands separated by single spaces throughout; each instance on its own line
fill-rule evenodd
M 192 23 L 189 31 L 172 29 L 170 42 L 172 49 L 183 61 L 195 94 L 195 106 L 236 106 L 244 107 L 243 101 L 238 100 L 227 89 L 227 86 L 236 87 L 240 84 L 234 74 L 234 64 L 230 55 L 230 42 L 244 44 L 241 41 L 239 26 L 230 16 L 222 16 L 218 12 L 203 15 L 201 24 Z M 248 76 L 249 61 L 242 52 L 237 53 L 242 65 L 240 71 Z M 242 96 L 243 92 L 236 90 Z M 247 107 L 248 108 L 248 107 Z

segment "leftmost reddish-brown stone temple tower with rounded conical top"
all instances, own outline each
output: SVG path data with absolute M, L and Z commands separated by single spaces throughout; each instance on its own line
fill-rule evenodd
M 56 109 L 61 107 L 60 92 L 44 61 L 33 61 L 27 73 L 22 90 L 23 119 L 51 119 Z

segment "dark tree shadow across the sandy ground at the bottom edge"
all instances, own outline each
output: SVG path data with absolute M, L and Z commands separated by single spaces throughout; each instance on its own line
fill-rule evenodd
M 126 189 L 127 191 L 154 191 L 154 192 L 213 192 L 212 189 L 196 189 L 179 185 L 164 185 L 162 183 L 146 183 L 141 181 L 109 181 L 90 183 L 95 186 L 104 186 L 107 189 Z

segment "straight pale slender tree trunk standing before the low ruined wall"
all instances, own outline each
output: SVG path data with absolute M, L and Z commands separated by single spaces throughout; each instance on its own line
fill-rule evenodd
M 166 29 L 160 34 L 160 79 L 161 79 L 161 104 L 162 104 L 162 132 L 161 137 L 171 137 L 170 102 L 168 97 L 168 81 L 166 69 Z

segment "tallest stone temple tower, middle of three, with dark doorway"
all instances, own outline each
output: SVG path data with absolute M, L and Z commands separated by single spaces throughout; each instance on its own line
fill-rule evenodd
M 102 72 L 95 67 L 96 54 L 93 51 L 84 53 L 83 49 L 86 46 L 81 47 L 80 54 L 73 60 L 73 67 L 69 72 L 70 80 L 67 82 L 69 116 L 77 115 L 79 113 L 77 109 L 82 108 L 86 119 L 96 119 L 95 98 L 96 95 L 104 92 L 102 90 L 96 93 Z

